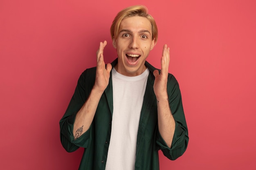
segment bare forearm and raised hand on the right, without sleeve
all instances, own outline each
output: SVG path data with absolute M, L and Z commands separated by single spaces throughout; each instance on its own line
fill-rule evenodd
M 159 74 L 157 70 L 153 72 L 155 76 L 154 92 L 157 98 L 158 129 L 167 146 L 171 148 L 175 132 L 175 120 L 170 110 L 167 94 L 169 62 L 170 48 L 167 48 L 165 44 L 161 58 L 161 73 Z

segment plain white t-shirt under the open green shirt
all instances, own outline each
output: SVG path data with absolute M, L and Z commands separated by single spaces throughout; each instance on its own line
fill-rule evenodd
M 149 70 L 128 77 L 112 69 L 113 117 L 106 170 L 134 170 L 139 118 Z

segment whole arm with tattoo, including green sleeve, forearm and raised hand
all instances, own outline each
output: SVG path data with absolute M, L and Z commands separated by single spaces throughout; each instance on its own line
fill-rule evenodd
M 96 71 L 89 69 L 81 74 L 70 104 L 60 120 L 61 144 L 67 152 L 87 147 L 90 136 L 88 129 L 92 124 L 99 99 L 108 85 L 112 68 L 111 64 L 105 67 L 103 61 L 102 53 L 105 46 L 106 41 L 101 42 L 97 51 Z

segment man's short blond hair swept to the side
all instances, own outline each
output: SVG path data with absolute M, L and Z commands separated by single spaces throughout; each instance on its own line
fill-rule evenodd
M 154 18 L 148 14 L 148 9 L 144 5 L 131 6 L 117 13 L 117 16 L 113 20 L 112 25 L 110 27 L 110 34 L 111 34 L 112 40 L 116 39 L 117 35 L 119 34 L 121 21 L 124 18 L 129 18 L 133 16 L 141 16 L 149 20 L 152 28 L 152 40 L 155 39 L 155 42 L 157 42 L 157 37 L 158 37 L 157 25 L 155 23 Z

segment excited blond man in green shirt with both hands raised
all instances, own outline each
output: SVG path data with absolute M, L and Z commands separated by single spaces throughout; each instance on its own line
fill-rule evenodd
M 79 170 L 158 170 L 158 150 L 180 157 L 188 144 L 179 85 L 168 74 L 164 45 L 161 71 L 146 62 L 157 42 L 155 20 L 144 6 L 120 11 L 111 29 L 117 60 L 85 70 L 60 121 L 67 152 L 85 148 Z

